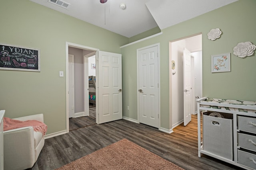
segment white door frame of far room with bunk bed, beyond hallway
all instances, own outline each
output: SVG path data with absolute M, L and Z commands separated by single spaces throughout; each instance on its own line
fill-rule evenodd
M 88 90 L 89 89 L 89 80 L 88 80 L 89 66 L 88 66 L 88 58 L 92 57 L 94 55 L 96 55 L 95 51 L 90 53 L 90 54 L 84 55 L 84 78 L 86 78 L 84 80 L 84 116 L 89 116 L 89 98 L 88 98 L 88 96 L 89 96 L 89 90 Z M 95 56 L 95 62 L 96 62 L 96 56 Z

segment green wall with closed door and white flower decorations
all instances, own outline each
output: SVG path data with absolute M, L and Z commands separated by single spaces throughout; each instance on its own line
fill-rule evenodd
M 161 127 L 171 129 L 169 113 L 169 42 L 202 33 L 203 96 L 256 101 L 256 57 L 240 58 L 233 55 L 239 42 L 256 45 L 256 1 L 239 0 L 188 21 L 162 29 L 162 35 L 123 47 L 123 115 L 137 119 L 136 50 L 160 43 L 160 117 Z M 215 41 L 207 33 L 220 28 L 222 35 Z M 255 51 L 254 51 L 255 52 Z M 211 55 L 231 53 L 231 72 L 211 73 Z M 127 110 L 130 106 L 130 110 Z

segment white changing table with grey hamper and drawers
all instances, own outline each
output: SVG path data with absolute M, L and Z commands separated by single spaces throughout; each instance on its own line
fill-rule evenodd
M 241 100 L 223 100 L 223 99 L 208 99 L 207 97 L 200 98 L 197 101 L 198 107 L 198 156 L 206 154 L 222 161 L 234 164 L 247 170 L 256 170 L 256 102 L 241 101 Z M 220 126 L 218 120 L 212 121 L 220 129 L 220 133 L 212 131 L 204 131 L 207 125 L 204 125 L 203 120 L 203 134 L 205 136 L 216 135 L 216 138 L 225 136 L 231 138 L 232 149 L 228 150 L 229 156 L 222 154 L 223 150 L 218 150 L 218 146 L 224 145 L 222 140 L 216 140 L 217 147 L 211 149 L 209 146 L 210 140 L 201 140 L 201 113 L 216 112 L 221 114 L 228 114 L 231 118 L 231 126 Z M 206 121 L 205 121 L 206 122 Z M 217 122 L 217 123 L 216 123 Z M 216 128 L 216 129 L 218 129 Z M 207 133 L 207 134 L 206 134 Z M 204 137 L 202 137 L 204 139 Z M 207 138 L 205 138 L 207 139 Z M 204 143 L 206 142 L 206 143 Z M 208 149 L 210 148 L 210 149 Z M 221 149 L 221 147 L 219 147 Z M 231 155 L 230 155 L 231 154 Z

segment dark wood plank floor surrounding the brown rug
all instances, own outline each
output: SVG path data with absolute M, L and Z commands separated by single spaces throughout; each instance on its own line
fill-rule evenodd
M 70 120 L 70 124 L 77 124 L 72 131 L 46 139 L 31 169 L 53 170 L 124 138 L 186 170 L 239 169 L 204 154 L 198 157 L 196 115 L 192 115 L 192 121 L 186 127 L 181 124 L 171 134 L 124 119 L 97 125 L 95 121 L 92 122 L 92 117 L 90 115 Z M 87 123 L 85 126 L 80 125 L 83 121 Z M 92 122 L 92 125 L 88 122 Z

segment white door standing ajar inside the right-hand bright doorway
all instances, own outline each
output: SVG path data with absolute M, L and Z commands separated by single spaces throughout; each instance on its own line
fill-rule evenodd
M 183 96 L 184 126 L 191 121 L 191 55 L 188 49 L 183 50 Z

